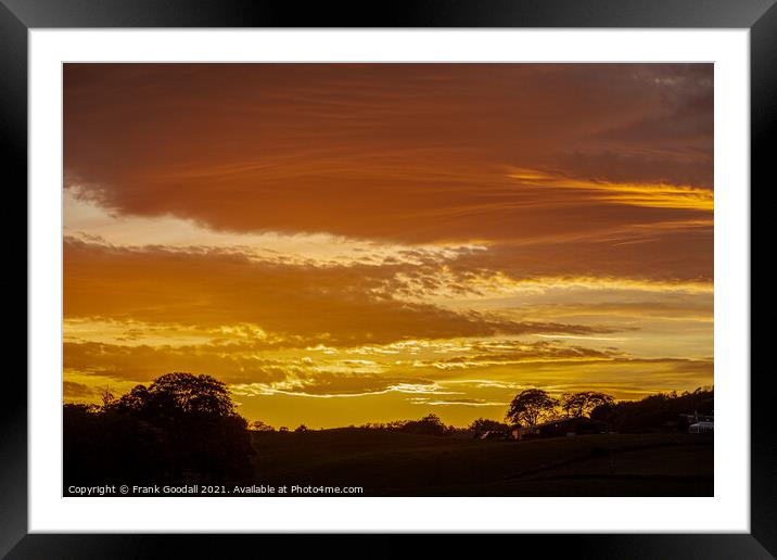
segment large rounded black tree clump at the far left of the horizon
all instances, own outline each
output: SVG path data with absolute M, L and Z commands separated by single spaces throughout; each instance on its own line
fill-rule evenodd
M 209 376 L 168 373 L 102 407 L 64 408 L 65 476 L 152 483 L 250 476 L 247 422 Z

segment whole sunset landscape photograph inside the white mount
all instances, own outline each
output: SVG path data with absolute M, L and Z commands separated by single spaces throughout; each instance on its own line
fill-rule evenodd
M 63 496 L 713 496 L 712 64 L 63 65 Z

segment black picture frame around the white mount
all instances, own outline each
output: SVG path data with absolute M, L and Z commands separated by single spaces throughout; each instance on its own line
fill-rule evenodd
M 0 153 L 7 186 L 21 192 L 27 181 L 28 31 L 56 27 L 747 28 L 751 56 L 751 183 L 766 182 L 774 158 L 767 138 L 777 128 L 776 3 L 777 0 L 397 0 L 358 4 L 293 0 L 0 0 Z M 17 237 L 18 229 L 15 231 Z M 24 277 L 26 289 L 26 272 Z M 15 285 L 21 283 L 18 278 Z M 7 283 L 7 293 L 15 285 Z M 543 556 L 773 558 L 777 555 L 777 444 L 769 419 L 769 373 L 768 369 L 753 370 L 750 378 L 749 534 L 504 535 L 498 540 L 501 544 L 509 538 L 507 546 L 517 550 L 539 547 L 546 550 L 538 552 Z M 221 558 L 246 550 L 251 556 L 268 553 L 268 546 L 280 545 L 288 556 L 295 557 L 295 551 L 309 546 L 309 537 L 300 535 L 28 534 L 27 383 L 21 368 L 7 371 L 5 383 L 7 398 L 0 407 L 0 556 Z M 411 535 L 379 535 L 369 545 L 361 545 L 351 536 L 346 540 L 328 535 L 317 537 L 315 547 L 319 556 L 380 558 L 404 556 L 416 547 L 412 539 Z M 472 555 L 483 553 L 482 545 L 449 535 L 435 556 L 447 553 L 444 548 L 466 553 L 470 546 L 477 547 L 471 549 Z M 493 546 L 491 542 L 488 547 Z

